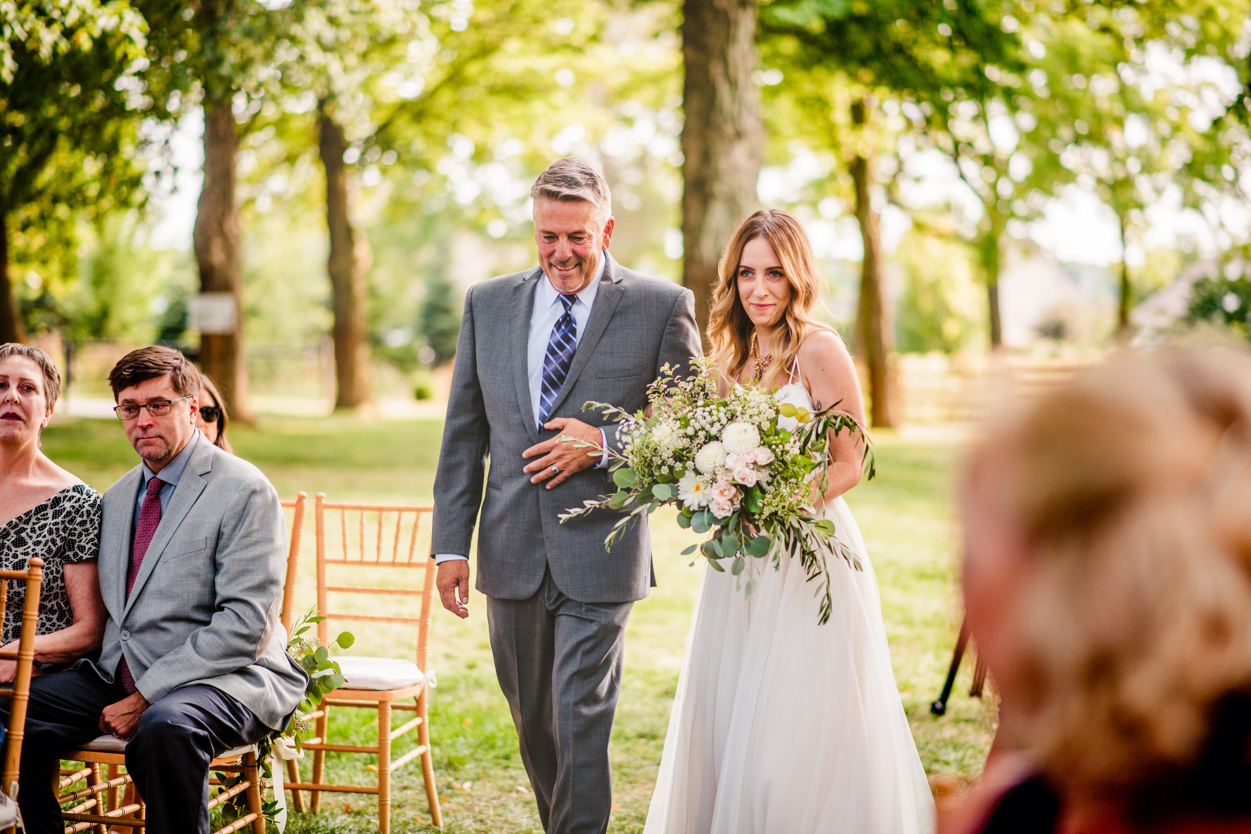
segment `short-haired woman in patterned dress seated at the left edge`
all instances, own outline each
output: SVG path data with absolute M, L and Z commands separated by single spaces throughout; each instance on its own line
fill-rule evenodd
M 35 663 L 60 665 L 100 648 L 108 614 L 100 598 L 100 494 L 40 450 L 61 380 L 43 350 L 0 345 L 0 569 L 44 560 Z M 21 631 L 25 586 L 9 588 L 4 648 Z M 16 664 L 0 660 L 0 681 Z

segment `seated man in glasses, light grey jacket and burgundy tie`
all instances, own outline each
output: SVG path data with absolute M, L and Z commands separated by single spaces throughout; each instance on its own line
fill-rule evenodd
M 195 428 L 183 354 L 134 350 L 109 384 L 143 463 L 104 494 L 104 645 L 31 683 L 19 803 L 28 831 L 60 834 L 60 754 L 111 733 L 129 739 L 145 830 L 208 834 L 213 756 L 285 726 L 304 695 L 278 619 L 286 524 L 260 470 Z

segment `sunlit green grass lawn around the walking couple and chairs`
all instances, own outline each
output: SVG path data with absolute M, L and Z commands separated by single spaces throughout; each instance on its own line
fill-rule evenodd
M 430 500 L 442 424 L 434 420 L 380 421 L 354 418 L 279 419 L 258 428 L 231 426 L 236 451 L 260 466 L 279 493 L 324 491 L 332 500 Z M 876 438 L 878 478 L 848 495 L 864 533 L 882 591 L 882 608 L 896 679 L 931 774 L 976 776 L 993 733 L 993 706 L 967 696 L 971 664 L 961 673 L 948 713 L 929 714 L 938 694 L 958 626 L 956 526 L 952 471 L 958 449 L 950 439 Z M 100 489 L 136 463 L 121 426 L 113 420 L 54 423 L 44 450 L 59 464 Z M 309 513 L 311 516 L 311 511 Z M 642 831 L 659 765 L 669 708 L 702 564 L 688 566 L 679 551 L 696 540 L 657 513 L 653 546 L 659 581 L 638 603 L 627 633 L 626 676 L 613 730 L 614 801 L 609 830 Z M 305 526 L 296 611 L 315 601 L 313 524 Z M 542 831 L 533 795 L 517 750 L 507 704 L 495 683 L 487 640 L 485 604 L 474 595 L 472 615 L 460 621 L 442 609 L 434 619 L 438 688 L 432 690 L 435 775 L 449 831 Z M 353 651 L 410 656 L 404 631 L 353 624 Z M 784 706 L 783 706 L 784 708 Z M 373 744 L 369 713 L 332 714 L 332 740 Z M 415 744 L 415 734 L 397 743 L 393 755 Z M 340 781 L 369 784 L 370 756 L 330 754 L 329 770 Z M 305 760 L 305 778 L 308 764 Z M 427 831 L 429 815 L 420 770 L 395 774 L 392 830 Z M 294 834 L 377 830 L 370 796 L 325 794 L 318 815 L 293 814 Z

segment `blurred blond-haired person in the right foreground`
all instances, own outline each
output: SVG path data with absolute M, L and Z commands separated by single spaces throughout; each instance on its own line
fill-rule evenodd
M 1251 359 L 1123 358 L 992 426 L 963 589 L 1005 723 L 980 831 L 1251 831 Z

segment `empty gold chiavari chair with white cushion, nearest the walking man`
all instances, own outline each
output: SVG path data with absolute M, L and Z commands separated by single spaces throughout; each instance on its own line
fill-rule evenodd
M 430 755 L 427 690 L 433 685 L 429 660 L 430 618 L 434 605 L 434 564 L 424 550 L 418 549 L 418 531 L 422 518 L 434 511 L 432 506 L 385 506 L 375 504 L 332 504 L 319 493 L 314 501 L 317 530 L 317 593 L 318 614 L 327 619 L 318 623 L 318 638 L 329 644 L 329 620 L 362 623 L 392 623 L 417 626 L 417 663 L 392 658 L 362 658 L 339 655 L 344 676 L 343 686 L 322 701 L 322 708 L 309 715 L 317 719 L 313 738 L 303 744 L 313 750 L 311 781 L 288 785 L 311 791 L 311 808 L 320 806 L 322 791 L 375 794 L 378 796 L 378 829 L 390 831 L 390 781 L 392 774 L 420 758 L 425 796 L 430 808 L 430 820 L 443 826 L 439 795 L 434 784 L 434 763 Z M 328 519 L 330 523 L 328 524 Z M 332 534 L 328 526 L 333 526 Z M 408 569 L 424 571 L 420 586 L 388 585 L 335 585 L 330 584 L 330 569 L 350 570 L 355 581 L 367 581 L 372 569 Z M 408 570 L 399 573 L 408 573 Z M 352 614 L 332 610 L 330 594 L 393 595 L 420 599 L 419 616 L 385 614 Z M 413 703 L 403 703 L 410 700 Z M 378 713 L 378 744 L 373 746 L 332 744 L 327 738 L 330 709 L 335 706 L 372 709 Z M 393 711 L 415 713 L 412 720 L 392 726 Z M 403 755 L 392 759 L 392 745 L 399 736 L 417 730 L 418 744 Z M 325 781 L 325 754 L 363 753 L 378 756 L 378 784 L 343 785 Z

